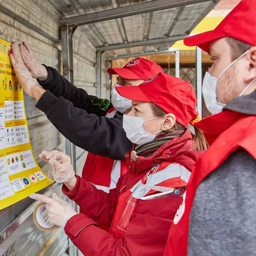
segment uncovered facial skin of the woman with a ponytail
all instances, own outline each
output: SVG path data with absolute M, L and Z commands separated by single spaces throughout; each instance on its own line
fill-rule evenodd
M 128 116 L 143 117 L 144 120 L 152 119 L 157 116 L 154 115 L 153 110 L 150 107 L 151 103 L 132 100 L 132 110 L 127 114 Z M 168 114 L 169 115 L 169 114 Z M 163 130 L 165 123 L 165 117 L 161 116 L 157 119 L 150 120 L 143 123 L 143 129 L 146 132 L 154 134 Z M 174 121 L 175 123 L 175 121 Z

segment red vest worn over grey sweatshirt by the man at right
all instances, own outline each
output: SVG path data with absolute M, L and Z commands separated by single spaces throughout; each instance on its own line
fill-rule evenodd
M 211 147 L 196 161 L 183 202 L 170 228 L 165 256 L 186 256 L 189 213 L 196 188 L 206 176 L 218 168 L 237 148 L 242 147 L 256 159 L 256 116 L 224 110 L 197 123 Z

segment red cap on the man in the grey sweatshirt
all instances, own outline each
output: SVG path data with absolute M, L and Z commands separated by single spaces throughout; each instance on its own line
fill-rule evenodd
M 184 39 L 187 46 L 199 46 L 209 52 L 213 40 L 225 36 L 233 37 L 244 43 L 256 45 L 256 1 L 242 0 L 214 29 Z

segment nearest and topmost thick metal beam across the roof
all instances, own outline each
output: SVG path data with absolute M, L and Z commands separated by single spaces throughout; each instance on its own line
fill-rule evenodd
M 60 25 L 85 25 L 105 20 L 113 20 L 146 12 L 155 12 L 188 4 L 207 2 L 209 0 L 153 0 L 140 4 L 127 5 L 120 8 L 109 9 L 100 12 L 92 12 L 84 15 L 64 18 Z

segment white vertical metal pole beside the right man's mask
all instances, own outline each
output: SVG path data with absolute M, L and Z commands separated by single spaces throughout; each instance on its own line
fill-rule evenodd
M 202 118 L 202 50 L 196 46 L 196 98 L 197 110 Z

